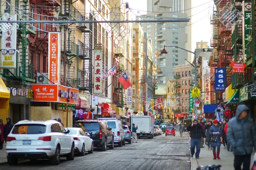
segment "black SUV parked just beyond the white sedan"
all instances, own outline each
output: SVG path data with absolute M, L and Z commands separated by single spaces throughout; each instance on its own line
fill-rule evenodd
M 105 121 L 79 120 L 74 127 L 80 127 L 84 133 L 89 133 L 94 147 L 100 147 L 102 151 L 106 151 L 107 147 L 114 149 L 114 134 Z

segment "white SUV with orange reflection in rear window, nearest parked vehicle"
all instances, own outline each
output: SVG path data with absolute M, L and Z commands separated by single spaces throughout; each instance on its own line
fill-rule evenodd
M 19 121 L 7 137 L 6 156 L 10 165 L 18 159 L 45 159 L 58 165 L 60 156 L 73 160 L 75 157 L 74 139 L 69 130 L 55 120 Z

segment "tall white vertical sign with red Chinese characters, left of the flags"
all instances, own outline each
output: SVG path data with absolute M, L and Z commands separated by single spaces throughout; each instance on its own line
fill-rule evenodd
M 102 49 L 94 50 L 94 93 L 101 93 L 102 89 Z

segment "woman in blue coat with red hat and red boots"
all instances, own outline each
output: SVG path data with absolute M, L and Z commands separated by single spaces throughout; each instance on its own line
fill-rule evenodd
M 215 141 L 212 141 L 212 151 L 213 151 L 213 159 L 220 159 L 220 151 L 221 151 L 221 127 L 218 125 L 218 121 L 213 121 L 213 126 L 210 127 L 209 133 L 212 135 L 212 138 L 215 138 Z M 217 147 L 217 154 L 216 154 Z

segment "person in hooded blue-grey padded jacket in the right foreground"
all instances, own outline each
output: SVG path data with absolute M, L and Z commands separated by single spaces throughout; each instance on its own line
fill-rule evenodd
M 241 170 L 242 164 L 243 170 L 249 170 L 253 147 L 256 149 L 256 131 L 249 108 L 245 104 L 237 107 L 236 117 L 228 123 L 227 141 L 233 147 L 235 170 Z

